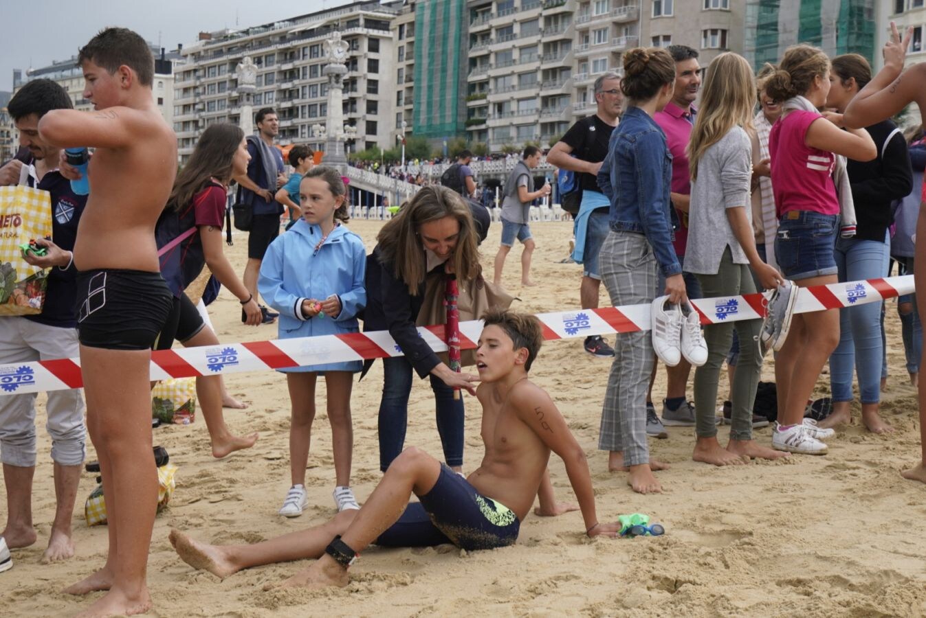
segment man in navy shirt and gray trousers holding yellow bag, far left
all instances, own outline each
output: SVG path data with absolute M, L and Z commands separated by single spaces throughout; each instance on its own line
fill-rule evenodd
M 57 169 L 59 149 L 39 136 L 39 119 L 53 109 L 70 108 L 70 97 L 52 80 L 32 80 L 10 100 L 8 110 L 19 130 L 19 143 L 28 153 L 0 167 L 0 186 L 14 187 L 20 178 L 51 197 L 52 241 L 36 239 L 44 256 L 24 252 L 23 258 L 47 272 L 42 313 L 0 316 L 0 365 L 78 355 L 77 293 L 73 264 L 77 225 L 86 195 L 71 191 L 69 180 Z M 25 172 L 25 174 L 23 173 Z M 8 205 L 8 204 L 5 204 Z M 12 207 L 12 206 L 9 206 Z M 0 265 L 2 268 L 5 265 Z M 32 527 L 32 476 L 36 464 L 34 393 L 3 392 L 0 396 L 0 460 L 6 483 L 6 527 L 0 536 L 10 549 L 28 547 L 36 540 Z M 47 429 L 55 462 L 56 513 L 43 561 L 74 555 L 71 515 L 81 478 L 86 427 L 80 389 L 48 393 Z

